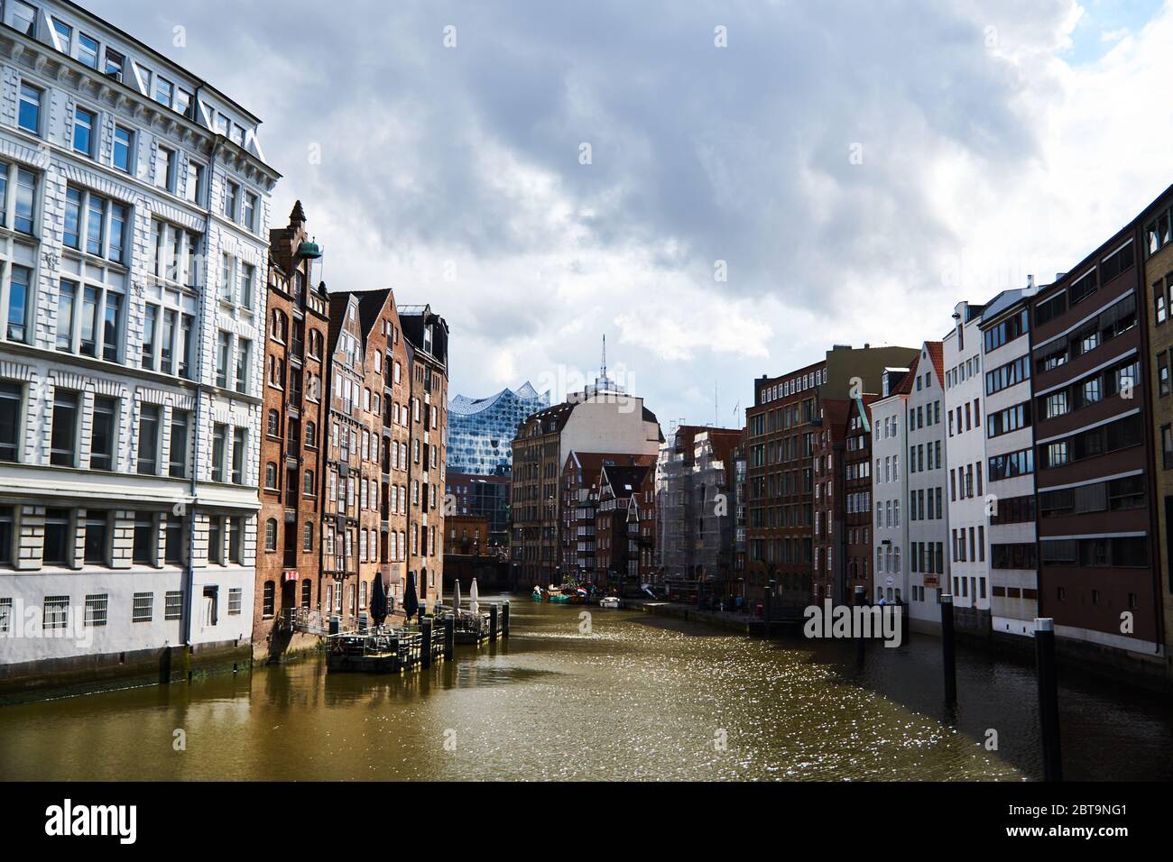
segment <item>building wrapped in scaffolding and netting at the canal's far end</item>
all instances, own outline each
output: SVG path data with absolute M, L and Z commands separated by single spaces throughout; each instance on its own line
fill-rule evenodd
M 657 462 L 657 557 L 665 577 L 726 581 L 733 570 L 733 450 L 739 428 L 682 425 Z

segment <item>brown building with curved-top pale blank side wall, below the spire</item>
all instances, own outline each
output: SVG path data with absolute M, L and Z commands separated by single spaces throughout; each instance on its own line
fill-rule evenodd
M 567 400 L 531 414 L 513 441 L 513 565 L 523 584 L 561 583 L 563 468 L 571 452 L 651 455 L 664 441 L 644 400 L 605 378 Z

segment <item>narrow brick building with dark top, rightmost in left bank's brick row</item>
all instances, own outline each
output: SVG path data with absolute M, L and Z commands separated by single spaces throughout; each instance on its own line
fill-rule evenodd
M 445 428 L 448 423 L 448 324 L 427 305 L 401 306 L 411 432 L 407 463 L 407 571 L 430 608 L 443 591 Z

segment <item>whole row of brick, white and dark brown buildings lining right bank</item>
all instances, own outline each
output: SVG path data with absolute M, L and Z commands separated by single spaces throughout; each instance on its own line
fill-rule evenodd
M 1173 189 L 1052 283 L 958 303 L 940 340 L 757 380 L 728 589 L 862 588 L 929 631 L 950 593 L 965 630 L 1052 617 L 1089 660 L 1168 673 L 1171 222 Z

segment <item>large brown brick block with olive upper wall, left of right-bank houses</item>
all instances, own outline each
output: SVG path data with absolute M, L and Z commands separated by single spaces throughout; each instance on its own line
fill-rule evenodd
M 846 402 L 853 392 L 879 393 L 884 368 L 906 366 L 916 353 L 908 347 L 865 345 L 853 349 L 840 345 L 819 362 L 754 381 L 754 403 L 746 409 L 746 584 L 751 600 L 760 597 L 769 582 L 784 602 L 806 604 L 830 595 L 835 579 L 828 561 L 819 561 L 818 571 L 813 565 L 816 434 L 823 430 L 825 421 L 833 432 L 836 427 L 833 416 L 825 416 L 825 405 L 828 399 L 843 402 L 840 416 L 846 421 Z M 826 524 L 820 527 L 827 529 Z M 846 586 L 846 579 L 840 584 Z

